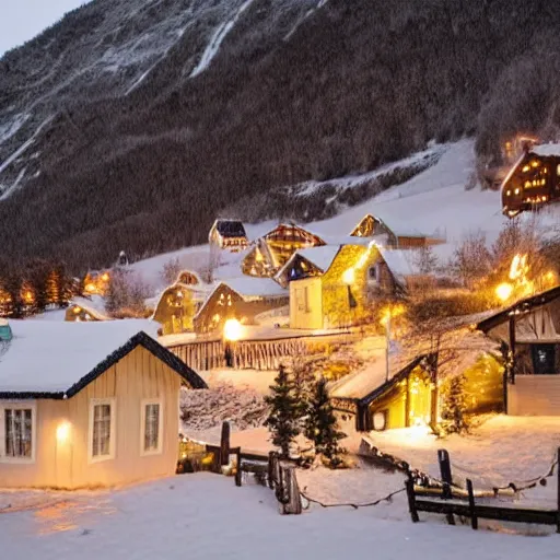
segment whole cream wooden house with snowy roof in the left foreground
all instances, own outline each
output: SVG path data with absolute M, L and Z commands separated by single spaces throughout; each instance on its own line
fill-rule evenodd
M 12 322 L 0 353 L 0 480 L 97 488 L 165 477 L 182 386 L 205 382 L 133 320 Z

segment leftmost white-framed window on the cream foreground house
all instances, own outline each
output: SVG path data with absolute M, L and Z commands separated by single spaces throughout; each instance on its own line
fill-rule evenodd
M 35 404 L 0 405 L 0 460 L 35 460 Z

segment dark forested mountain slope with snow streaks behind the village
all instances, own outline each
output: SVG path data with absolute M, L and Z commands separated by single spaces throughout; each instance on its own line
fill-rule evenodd
M 538 94 L 524 126 L 556 122 L 551 80 L 516 78 L 558 24 L 545 0 L 94 0 L 0 59 L 2 254 L 97 267 L 433 138 L 490 156 L 533 100 L 500 83 Z

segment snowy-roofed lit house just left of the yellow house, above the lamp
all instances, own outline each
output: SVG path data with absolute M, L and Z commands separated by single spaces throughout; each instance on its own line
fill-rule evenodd
M 194 318 L 195 331 L 223 331 L 228 319 L 255 325 L 257 316 L 287 306 L 289 292 L 270 278 L 232 278 L 220 282 Z

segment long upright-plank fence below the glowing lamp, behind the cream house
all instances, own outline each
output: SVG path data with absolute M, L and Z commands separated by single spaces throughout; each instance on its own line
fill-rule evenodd
M 175 355 L 195 371 L 232 366 L 240 370 L 278 370 L 283 360 L 294 355 L 310 355 L 317 346 L 349 343 L 357 334 L 301 336 L 269 340 L 203 340 L 168 347 Z

